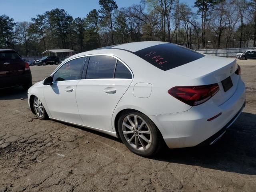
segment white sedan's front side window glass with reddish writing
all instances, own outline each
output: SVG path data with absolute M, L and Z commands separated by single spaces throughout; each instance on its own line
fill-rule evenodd
M 53 82 L 81 79 L 86 57 L 70 60 L 63 64 L 53 75 Z

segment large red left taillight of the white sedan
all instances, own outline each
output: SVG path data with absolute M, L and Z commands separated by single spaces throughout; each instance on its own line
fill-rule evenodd
M 171 96 L 190 105 L 196 106 L 206 102 L 220 90 L 217 83 L 202 86 L 178 86 L 168 90 Z

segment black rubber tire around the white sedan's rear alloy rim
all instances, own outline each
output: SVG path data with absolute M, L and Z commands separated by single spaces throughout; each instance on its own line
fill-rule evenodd
M 143 150 L 138 150 L 134 147 L 132 147 L 128 141 L 126 140 L 127 138 L 124 136 L 124 132 L 123 132 L 123 121 L 127 118 L 127 116 L 129 115 L 135 115 L 138 116 L 139 118 L 142 118 L 142 120 L 144 120 L 146 122 L 146 128 L 148 128 L 151 132 L 151 144 L 148 148 Z M 139 122 L 138 122 L 139 123 Z M 139 126 L 139 125 L 138 125 Z M 156 154 L 158 154 L 158 152 L 160 152 L 160 150 L 162 149 L 162 147 L 164 146 L 164 140 L 162 138 L 162 134 L 160 133 L 160 131 L 158 130 L 158 128 L 156 127 L 156 125 L 154 124 L 154 122 L 152 122 L 152 120 L 150 120 L 150 118 L 148 118 L 148 116 L 146 116 L 145 114 L 142 114 L 141 112 L 137 112 L 137 111 L 133 111 L 133 110 L 129 110 L 129 111 L 125 111 L 124 113 L 122 113 L 118 119 L 118 132 L 119 132 L 119 136 L 122 140 L 122 142 L 126 145 L 126 147 L 134 152 L 135 154 L 138 154 L 140 156 L 144 156 L 144 157 L 150 157 L 150 156 L 155 156 Z M 134 133 L 135 134 L 135 133 Z M 136 133 L 138 135 L 141 135 L 140 133 Z M 126 134 L 127 135 L 127 134 Z M 133 133 L 130 134 L 131 136 L 133 135 Z M 138 138 L 138 142 L 141 143 L 144 142 L 144 140 L 141 140 L 141 137 L 139 139 L 139 136 L 137 135 Z M 142 134 L 144 135 L 144 134 Z M 136 138 L 136 136 L 135 136 Z M 134 139 L 135 140 L 135 139 Z M 140 141 L 141 140 L 141 141 Z M 136 142 L 136 141 L 135 141 Z M 132 140 L 131 140 L 132 143 Z M 145 144 L 145 142 L 144 142 Z M 139 144 L 138 144 L 139 145 Z M 140 148 L 142 148 L 142 144 L 140 144 Z

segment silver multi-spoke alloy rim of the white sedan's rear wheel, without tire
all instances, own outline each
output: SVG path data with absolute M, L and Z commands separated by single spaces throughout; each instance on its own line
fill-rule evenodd
M 124 138 L 132 148 L 147 150 L 152 142 L 152 133 L 146 121 L 138 115 L 129 114 L 122 122 Z

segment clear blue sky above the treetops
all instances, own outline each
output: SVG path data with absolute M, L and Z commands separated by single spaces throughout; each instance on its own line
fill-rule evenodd
M 73 18 L 84 18 L 92 9 L 100 9 L 98 0 L 0 0 L 0 15 L 5 14 L 14 22 L 30 21 L 32 17 L 55 8 L 66 10 Z M 138 4 L 140 0 L 116 0 L 118 8 Z M 190 7 L 194 0 L 180 0 Z

